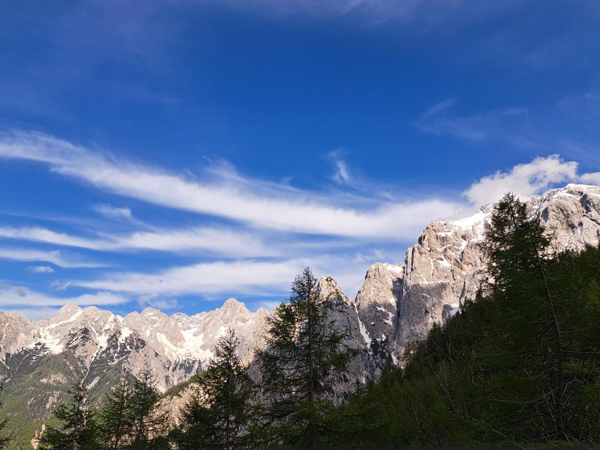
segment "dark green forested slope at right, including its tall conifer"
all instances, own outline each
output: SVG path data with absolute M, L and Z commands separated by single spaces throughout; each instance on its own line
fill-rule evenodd
M 497 205 L 475 301 L 342 411 L 365 448 L 584 448 L 600 439 L 600 250 L 559 253 L 523 203 Z M 368 444 L 368 445 L 367 445 Z

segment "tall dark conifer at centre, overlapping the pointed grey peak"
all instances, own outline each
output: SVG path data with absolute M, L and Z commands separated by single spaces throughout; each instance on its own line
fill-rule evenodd
M 309 268 L 292 283 L 292 294 L 268 320 L 266 349 L 257 354 L 262 388 L 271 401 L 265 421 L 273 439 L 316 449 L 321 440 L 339 439 L 328 426 L 332 386 L 343 379 L 353 356 L 343 350 L 345 334 L 329 319 Z

